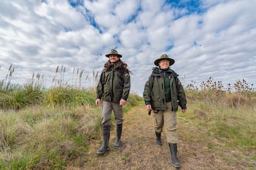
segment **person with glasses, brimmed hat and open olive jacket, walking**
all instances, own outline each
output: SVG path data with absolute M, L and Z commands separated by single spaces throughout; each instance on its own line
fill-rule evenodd
M 152 74 L 146 81 L 143 98 L 149 114 L 151 109 L 154 110 L 156 143 L 162 146 L 161 132 L 165 125 L 172 166 L 180 168 L 177 158 L 176 112 L 179 106 L 182 112 L 186 112 L 187 100 L 177 73 L 169 67 L 174 64 L 174 60 L 163 54 L 154 64 L 158 67 L 152 69 Z

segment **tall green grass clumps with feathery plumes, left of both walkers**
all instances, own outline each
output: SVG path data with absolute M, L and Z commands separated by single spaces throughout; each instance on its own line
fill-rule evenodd
M 93 104 L 95 87 L 82 88 L 84 70 L 73 70 L 72 84 L 65 83 L 65 66 L 57 66 L 52 86 L 46 89 L 42 84 L 43 75 L 33 73 L 29 83 L 20 86 L 12 83 L 14 67 L 11 65 L 4 80 L 0 81 L 0 109 L 23 109 L 29 106 L 82 106 Z M 93 70 L 93 79 L 98 80 L 98 72 Z M 85 78 L 88 80 L 88 75 Z M 94 84 L 95 84 L 94 82 Z

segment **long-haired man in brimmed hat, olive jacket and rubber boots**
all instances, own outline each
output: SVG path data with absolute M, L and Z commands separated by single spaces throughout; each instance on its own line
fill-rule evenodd
M 121 134 L 123 129 L 123 106 L 126 104 L 130 92 L 130 70 L 127 64 L 120 58 L 122 57 L 116 50 L 111 50 L 106 54 L 109 60 L 104 65 L 101 77 L 97 86 L 96 105 L 101 104 L 101 124 L 103 131 L 103 143 L 97 150 L 97 154 L 104 154 L 108 151 L 108 141 L 110 138 L 111 114 L 112 110 L 116 122 L 116 140 L 114 148 L 121 146 Z

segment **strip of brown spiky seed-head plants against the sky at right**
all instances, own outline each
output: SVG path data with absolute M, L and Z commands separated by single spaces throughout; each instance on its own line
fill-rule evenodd
M 196 82 L 191 81 L 186 88 L 187 97 L 193 100 L 203 100 L 207 104 L 221 103 L 227 107 L 252 106 L 255 103 L 254 84 L 250 86 L 246 80 L 238 80 L 233 86 L 228 84 L 226 88 L 222 81 L 215 81 L 212 77 L 202 81 L 200 89 L 195 84 Z

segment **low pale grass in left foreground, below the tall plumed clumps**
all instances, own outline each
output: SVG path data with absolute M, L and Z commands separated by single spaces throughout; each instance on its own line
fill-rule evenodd
M 132 94 L 125 107 L 138 100 Z M 65 169 L 85 157 L 90 140 L 99 134 L 100 107 L 61 106 L 0 110 L 0 169 Z

